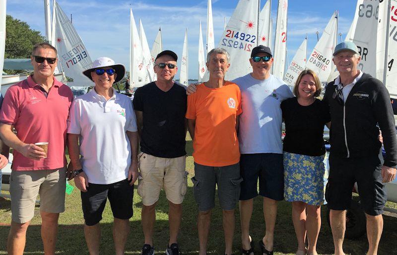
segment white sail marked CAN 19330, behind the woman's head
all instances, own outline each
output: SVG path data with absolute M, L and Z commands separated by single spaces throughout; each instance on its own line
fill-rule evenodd
M 299 46 L 298 51 L 295 53 L 291 64 L 288 66 L 287 72 L 285 73 L 284 81 L 289 86 L 293 87 L 298 75 L 306 67 L 306 55 L 307 55 L 307 37 L 303 40 L 301 46 Z

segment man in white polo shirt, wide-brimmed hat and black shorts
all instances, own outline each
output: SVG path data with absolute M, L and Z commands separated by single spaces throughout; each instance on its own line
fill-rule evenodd
M 85 240 L 89 253 L 99 254 L 99 221 L 109 199 L 113 240 L 116 254 L 121 255 L 130 231 L 133 184 L 138 177 L 135 114 L 130 98 L 112 87 L 124 77 L 124 65 L 102 57 L 83 74 L 95 86 L 73 101 L 67 146 L 74 183 L 81 191 Z

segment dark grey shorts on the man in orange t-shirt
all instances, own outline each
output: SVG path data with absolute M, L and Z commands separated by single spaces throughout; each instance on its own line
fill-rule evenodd
M 215 187 L 218 186 L 219 205 L 223 210 L 233 210 L 240 197 L 240 164 L 224 167 L 203 166 L 195 162 L 193 193 L 200 211 L 215 206 Z

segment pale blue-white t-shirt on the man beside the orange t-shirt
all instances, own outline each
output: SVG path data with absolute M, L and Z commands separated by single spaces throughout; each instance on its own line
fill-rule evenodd
M 241 90 L 240 153 L 282 153 L 280 104 L 294 96 L 288 85 L 273 75 L 257 80 L 250 73 L 232 82 Z

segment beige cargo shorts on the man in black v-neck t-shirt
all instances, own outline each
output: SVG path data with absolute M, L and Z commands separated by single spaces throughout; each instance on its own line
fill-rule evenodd
M 143 205 L 157 202 L 161 189 L 167 199 L 174 204 L 181 204 L 188 188 L 186 156 L 178 158 L 159 158 L 146 153 L 138 156 L 139 177 L 138 194 Z

